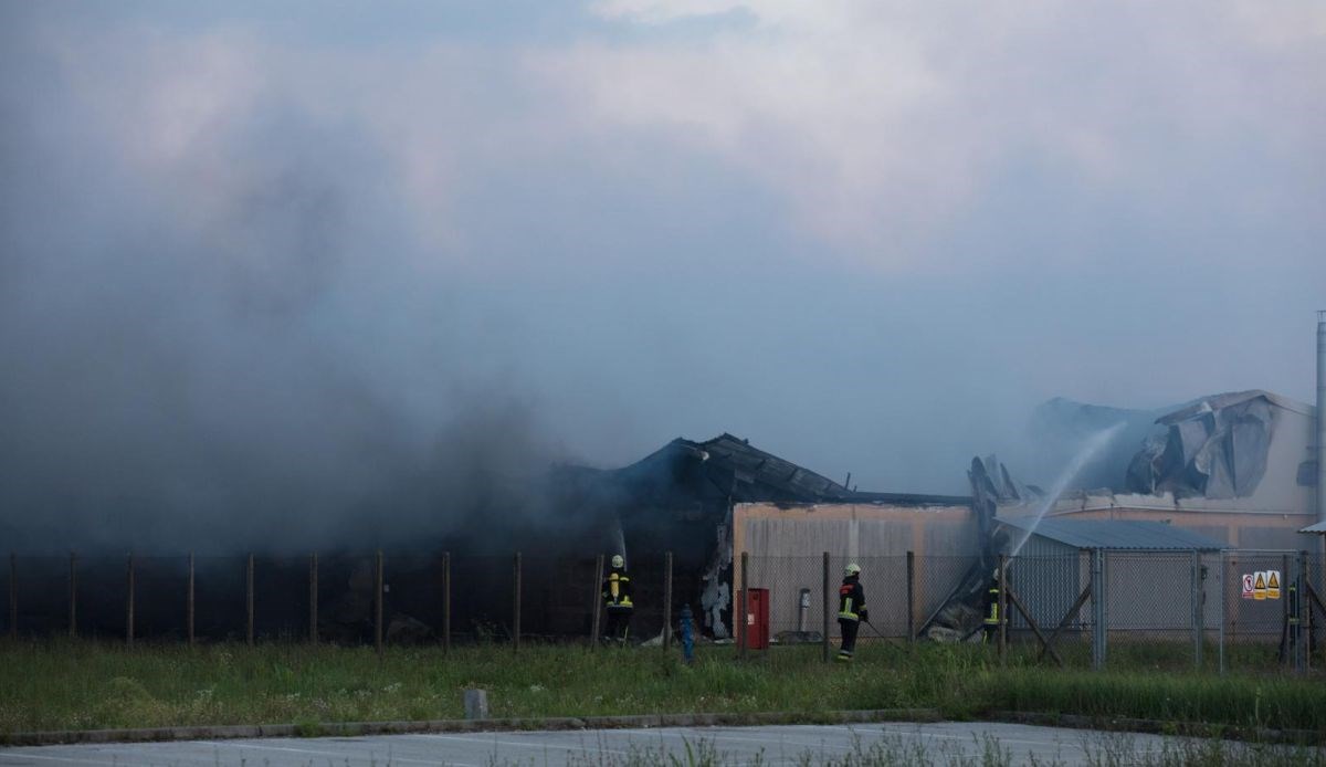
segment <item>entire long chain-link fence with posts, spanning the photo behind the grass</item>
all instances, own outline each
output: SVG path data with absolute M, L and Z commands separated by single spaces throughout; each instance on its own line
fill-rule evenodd
M 0 567 L 0 634 L 121 641 L 337 644 L 589 642 L 606 632 L 607 557 L 465 553 L 304 556 L 9 556 Z M 743 560 L 744 572 L 743 572 Z M 1326 670 L 1326 561 L 1284 551 L 1078 551 L 1005 561 L 975 556 L 853 557 L 869 625 L 859 640 L 920 636 L 1004 644 L 1045 663 L 1233 671 Z M 737 557 L 727 626 L 741 589 L 758 589 L 773 646 L 837 642 L 849 559 Z M 633 559 L 633 644 L 671 638 L 683 604 L 703 626 L 697 568 Z M 727 587 L 724 587 L 727 589 Z M 1001 593 L 1002 592 L 1002 593 Z M 997 606 L 994 606 L 997 604 Z M 937 622 L 944 632 L 928 628 Z M 827 632 L 826 632 L 827 629 Z M 723 641 L 725 632 L 715 634 Z M 749 636 L 748 636 L 749 638 Z M 758 637 L 757 637 L 758 638 Z

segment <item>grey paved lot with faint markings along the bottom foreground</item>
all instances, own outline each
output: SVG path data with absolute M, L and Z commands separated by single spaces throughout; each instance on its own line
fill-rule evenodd
M 805 764 L 841 762 L 849 754 L 880 756 L 882 764 L 911 764 L 924 755 L 935 764 L 980 758 L 996 747 L 1022 764 L 1086 764 L 1089 751 L 1158 751 L 1156 735 L 1119 735 L 1029 725 L 941 722 L 935 725 L 659 727 L 646 730 L 572 730 L 556 732 L 467 732 L 377 735 L 366 738 L 268 738 L 260 740 L 188 740 L 0 748 L 0 767 L 32 764 L 151 764 L 243 767 L 442 766 L 626 766 L 701 762 L 721 764 Z M 692 756 L 687 755 L 691 748 Z M 922 751 L 923 750 L 923 751 Z M 1131 762 L 1132 759 L 1127 759 Z M 979 762 L 977 762 L 979 763 Z

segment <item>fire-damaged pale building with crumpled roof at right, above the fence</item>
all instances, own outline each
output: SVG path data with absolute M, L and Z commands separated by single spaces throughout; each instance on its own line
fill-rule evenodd
M 1126 426 L 1079 472 L 1081 490 L 1005 495 L 1000 516 L 1050 503 L 1048 516 L 1167 522 L 1228 547 L 1274 549 L 1297 549 L 1297 531 L 1317 520 L 1310 405 L 1254 389 L 1156 413 L 1061 399 L 1038 418 L 1061 435 Z

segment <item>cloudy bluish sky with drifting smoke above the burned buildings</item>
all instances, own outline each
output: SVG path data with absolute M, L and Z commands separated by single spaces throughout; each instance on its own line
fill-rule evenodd
M 1053 395 L 1311 399 L 1326 5 L 3 0 L 0 167 L 11 528 L 476 431 L 953 492 Z

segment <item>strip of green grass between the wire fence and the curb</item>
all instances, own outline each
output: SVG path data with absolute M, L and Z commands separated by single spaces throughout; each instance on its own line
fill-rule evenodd
M 1036 711 L 1311 730 L 1326 735 L 1321 679 L 1183 671 L 1001 669 L 985 648 L 861 648 L 826 666 L 818 648 L 737 661 L 704 648 L 687 666 L 660 649 L 582 646 L 310 648 L 293 644 L 0 642 L 0 731 L 460 718 L 461 690 L 493 717 L 936 707 L 944 717 Z

